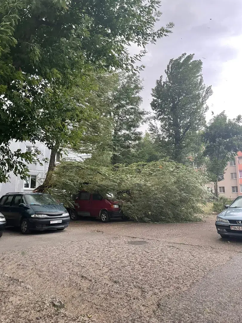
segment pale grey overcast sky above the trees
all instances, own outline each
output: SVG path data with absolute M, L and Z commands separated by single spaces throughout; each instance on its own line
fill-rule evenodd
M 211 111 L 225 110 L 230 118 L 242 114 L 242 0 L 162 0 L 161 12 L 158 26 L 172 21 L 175 27 L 170 36 L 147 46 L 143 107 L 150 110 L 151 89 L 169 59 L 186 52 L 202 59 L 204 82 L 212 85 L 207 120 Z

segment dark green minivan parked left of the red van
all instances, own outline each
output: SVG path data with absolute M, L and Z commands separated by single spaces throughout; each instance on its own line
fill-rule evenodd
M 23 234 L 32 230 L 64 230 L 70 222 L 65 207 L 45 193 L 7 193 L 0 199 L 0 212 L 6 225 L 20 226 Z

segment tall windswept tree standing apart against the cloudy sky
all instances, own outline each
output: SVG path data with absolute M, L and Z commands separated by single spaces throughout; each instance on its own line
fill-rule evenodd
M 200 152 L 201 145 L 195 143 L 197 131 L 205 125 L 206 102 L 212 94 L 211 87 L 203 82 L 202 61 L 193 57 L 184 53 L 171 59 L 166 79 L 161 76 L 152 90 L 151 107 L 160 127 L 151 126 L 151 131 L 157 133 L 166 156 L 183 163 L 191 153 L 192 142 L 197 147 L 195 155 Z

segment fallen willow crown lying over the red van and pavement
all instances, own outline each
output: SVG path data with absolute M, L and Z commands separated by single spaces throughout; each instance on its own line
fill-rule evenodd
M 61 162 L 48 192 L 67 205 L 79 190 L 114 193 L 124 213 L 136 221 L 198 221 L 206 203 L 207 182 L 193 168 L 168 160 L 131 165 L 96 167 Z M 89 184 L 87 184 L 89 183 Z

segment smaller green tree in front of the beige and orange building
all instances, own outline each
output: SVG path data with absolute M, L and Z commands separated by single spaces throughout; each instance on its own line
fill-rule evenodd
M 215 116 L 206 127 L 204 141 L 210 179 L 213 182 L 221 181 L 228 161 L 242 150 L 241 116 L 231 120 L 224 111 Z

